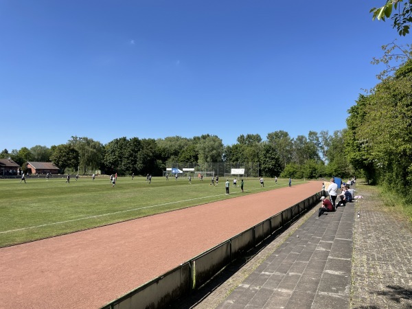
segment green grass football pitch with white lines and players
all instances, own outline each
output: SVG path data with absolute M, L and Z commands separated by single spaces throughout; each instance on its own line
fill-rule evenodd
M 244 192 L 233 187 L 225 195 L 225 181 L 210 185 L 210 179 L 187 179 L 166 181 L 153 177 L 149 184 L 146 178 L 119 177 L 112 187 L 108 177 L 99 176 L 71 179 L 20 179 L 0 180 L 0 247 L 58 236 L 73 231 L 90 229 L 115 222 L 150 216 L 165 211 L 181 209 L 220 201 L 241 194 L 253 194 L 276 187 L 287 187 L 287 179 L 265 179 L 261 188 L 258 179 L 244 179 Z M 304 183 L 293 180 L 293 185 Z M 238 181 L 238 185 L 240 181 Z

